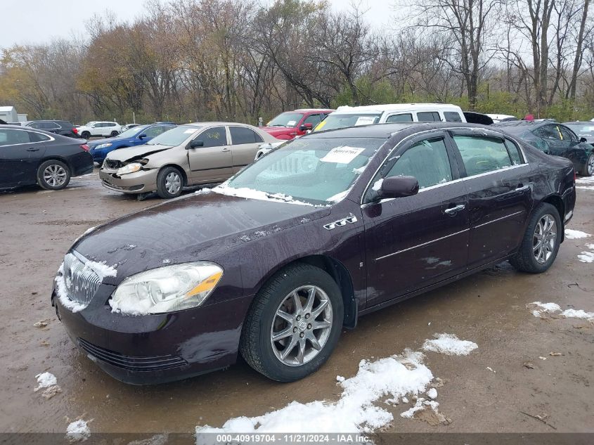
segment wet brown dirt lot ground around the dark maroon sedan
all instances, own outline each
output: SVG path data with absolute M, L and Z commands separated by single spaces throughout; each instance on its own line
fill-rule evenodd
M 479 346 L 468 356 L 427 352 L 425 364 L 444 381 L 439 411 L 451 423 L 401 418 L 411 403 L 380 402 L 394 413 L 391 431 L 594 432 L 593 323 L 536 318 L 526 307 L 539 300 L 594 311 L 594 263 L 577 258 L 594 237 L 566 240 L 542 275 L 517 273 L 504 263 L 363 317 L 356 330 L 342 335 L 330 361 L 300 382 L 271 382 L 243 362 L 157 387 L 113 380 L 67 337 L 50 305 L 52 280 L 86 228 L 156 202 L 108 191 L 96 174 L 73 179 L 65 191 L 28 188 L 0 195 L 0 432 L 63 433 L 79 416 L 93 419 L 91 432 L 220 427 L 228 418 L 261 415 L 293 400 L 335 400 L 341 392 L 337 375 L 356 374 L 361 359 L 420 350 L 434 333 Z M 593 190 L 579 190 L 569 226 L 594 234 Z M 39 321 L 47 326 L 34 327 Z M 34 392 L 35 375 L 44 371 L 56 375 L 62 389 L 50 399 Z

